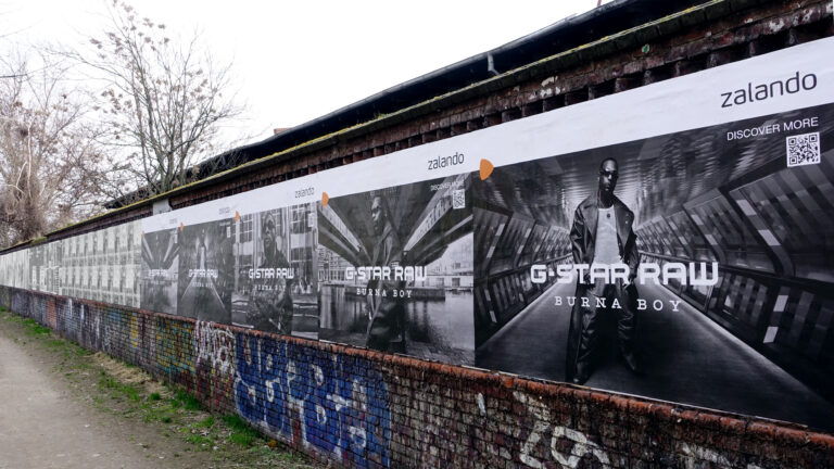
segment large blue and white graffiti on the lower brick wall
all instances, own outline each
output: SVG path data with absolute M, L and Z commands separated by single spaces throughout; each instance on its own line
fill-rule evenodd
M 388 391 L 370 362 L 241 333 L 236 346 L 247 420 L 353 466 L 388 467 Z

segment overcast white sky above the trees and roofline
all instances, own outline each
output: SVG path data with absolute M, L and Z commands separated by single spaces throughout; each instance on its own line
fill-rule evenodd
M 607 1 L 604 1 L 606 3 Z M 596 7 L 596 0 L 510 2 L 141 0 L 168 30 L 199 29 L 232 61 L 253 140 L 485 52 Z M 104 0 L 0 0 L 0 53 L 31 42 L 76 46 L 105 23 Z

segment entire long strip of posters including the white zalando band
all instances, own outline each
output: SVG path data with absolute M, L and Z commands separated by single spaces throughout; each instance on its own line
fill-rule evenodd
M 14 251 L 0 280 L 834 430 L 832 45 Z

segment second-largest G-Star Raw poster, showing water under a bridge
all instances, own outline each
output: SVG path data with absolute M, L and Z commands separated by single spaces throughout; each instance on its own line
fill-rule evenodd
M 470 183 L 460 175 L 321 204 L 319 338 L 472 363 Z

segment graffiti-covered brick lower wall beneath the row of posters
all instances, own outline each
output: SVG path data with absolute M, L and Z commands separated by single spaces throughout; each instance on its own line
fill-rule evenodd
M 0 305 L 348 468 L 832 468 L 799 426 L 0 288 Z

